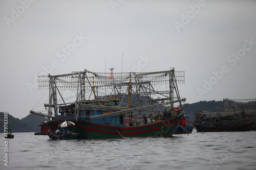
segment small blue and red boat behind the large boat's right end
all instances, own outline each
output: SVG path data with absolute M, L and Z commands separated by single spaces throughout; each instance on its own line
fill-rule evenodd
M 193 125 L 190 125 L 189 117 L 183 116 L 179 126 L 175 129 L 173 134 L 188 134 L 192 133 Z

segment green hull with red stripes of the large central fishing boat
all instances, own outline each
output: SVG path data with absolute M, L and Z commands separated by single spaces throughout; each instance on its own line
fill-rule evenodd
M 112 126 L 78 120 L 75 122 L 74 132 L 81 134 L 80 137 L 84 139 L 172 136 L 183 115 L 181 113 L 178 117 L 142 126 Z M 58 120 L 49 122 L 52 131 L 58 124 Z

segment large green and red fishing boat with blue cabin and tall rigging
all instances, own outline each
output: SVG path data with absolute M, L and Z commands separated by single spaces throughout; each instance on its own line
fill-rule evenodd
M 60 123 L 73 122 L 67 129 L 84 139 L 172 136 L 184 116 L 186 99 L 177 86 L 184 83 L 184 71 L 114 73 L 113 69 L 110 74 L 85 69 L 39 76 L 39 89 L 49 90 L 47 113 L 30 113 L 48 117 L 53 132 Z

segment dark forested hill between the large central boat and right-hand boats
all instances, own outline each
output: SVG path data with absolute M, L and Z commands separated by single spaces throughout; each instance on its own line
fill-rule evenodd
M 195 112 L 200 110 L 216 111 L 216 108 L 222 108 L 222 103 L 222 101 L 200 101 L 197 103 L 186 104 L 184 111 L 186 116 L 189 116 L 191 119 L 195 119 Z

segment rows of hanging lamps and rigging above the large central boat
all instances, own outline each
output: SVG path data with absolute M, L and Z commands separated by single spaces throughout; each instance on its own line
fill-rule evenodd
M 122 72 L 112 73 L 110 76 L 109 73 L 84 70 L 67 75 L 38 77 L 39 89 L 49 89 L 49 86 L 52 86 L 56 91 L 70 90 L 74 94 L 73 101 L 113 98 L 123 100 L 123 105 L 129 92 L 135 94 L 131 95 L 131 98 L 144 102 L 152 99 L 166 100 L 170 97 L 169 88 L 174 92 L 175 83 L 185 83 L 184 71 Z M 71 95 L 66 98 L 68 96 Z

